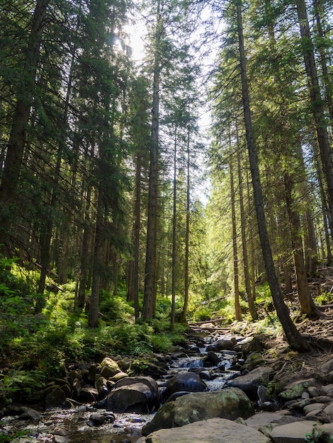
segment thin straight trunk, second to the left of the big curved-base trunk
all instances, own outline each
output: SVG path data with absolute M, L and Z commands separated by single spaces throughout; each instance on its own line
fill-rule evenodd
M 231 142 L 230 142 L 231 144 Z M 232 167 L 232 156 L 230 156 L 230 193 L 231 193 L 231 216 L 232 216 L 232 253 L 234 263 L 234 301 L 235 301 L 235 319 L 242 320 L 242 309 L 239 304 L 239 275 L 238 275 L 238 251 L 237 251 L 237 226 L 235 209 L 235 185 L 234 172 Z

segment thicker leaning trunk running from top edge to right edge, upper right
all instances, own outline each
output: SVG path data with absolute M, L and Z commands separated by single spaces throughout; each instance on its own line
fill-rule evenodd
M 333 233 L 333 161 L 332 151 L 329 146 L 329 137 L 324 112 L 324 100 L 320 92 L 317 67 L 315 64 L 315 52 L 312 43 L 312 35 L 305 0 L 295 0 L 300 25 L 300 36 L 302 40 L 302 52 L 305 63 L 305 71 L 310 91 L 312 114 L 315 120 L 317 140 L 322 161 L 322 171 L 327 185 L 327 207 L 329 214 L 329 226 Z

